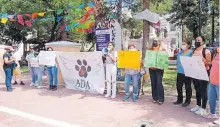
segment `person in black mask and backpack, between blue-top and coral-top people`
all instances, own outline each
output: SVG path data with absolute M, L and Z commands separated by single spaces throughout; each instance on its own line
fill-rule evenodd
M 204 62 L 206 67 L 207 73 L 209 72 L 209 65 L 211 64 L 211 52 L 204 48 L 203 45 L 205 44 L 204 37 L 197 37 L 195 42 L 195 50 L 193 51 L 193 56 L 200 56 Z M 193 84 L 196 90 L 196 100 L 197 105 L 192 108 L 190 111 L 195 112 L 197 115 L 206 115 L 206 104 L 207 104 L 207 87 L 208 81 L 200 80 L 200 79 L 193 79 Z

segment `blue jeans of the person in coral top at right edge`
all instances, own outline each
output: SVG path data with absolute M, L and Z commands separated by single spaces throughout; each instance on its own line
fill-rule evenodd
M 210 105 L 210 112 L 212 114 L 215 114 L 216 111 L 216 100 L 218 99 L 218 101 L 220 101 L 219 90 L 219 85 L 213 85 L 209 83 L 208 99 Z

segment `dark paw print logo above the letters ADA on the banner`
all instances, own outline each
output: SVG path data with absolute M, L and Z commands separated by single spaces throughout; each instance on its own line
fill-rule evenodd
M 78 65 L 75 66 L 75 69 L 79 72 L 79 76 L 86 78 L 88 76 L 88 72 L 91 71 L 91 67 L 87 66 L 86 60 L 77 60 L 77 64 Z

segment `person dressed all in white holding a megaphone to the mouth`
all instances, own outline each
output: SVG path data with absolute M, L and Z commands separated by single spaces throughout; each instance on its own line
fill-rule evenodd
M 114 52 L 114 43 L 108 43 L 108 54 L 106 55 L 106 82 L 107 82 L 107 94 L 105 97 L 116 97 L 116 55 Z

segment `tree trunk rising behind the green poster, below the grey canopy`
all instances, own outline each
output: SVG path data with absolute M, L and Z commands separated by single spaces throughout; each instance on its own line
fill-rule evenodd
M 149 9 L 150 7 L 150 0 L 143 0 L 143 5 L 145 9 Z M 150 37 L 150 25 L 149 22 L 144 20 L 144 28 L 143 28 L 143 44 L 142 44 L 142 60 L 145 58 L 146 50 L 147 50 L 147 44 L 149 42 Z

